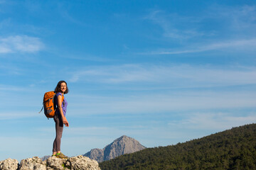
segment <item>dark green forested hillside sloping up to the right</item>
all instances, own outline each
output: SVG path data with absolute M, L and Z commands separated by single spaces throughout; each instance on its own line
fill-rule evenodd
M 256 124 L 198 140 L 144 149 L 100 163 L 115 169 L 256 169 Z

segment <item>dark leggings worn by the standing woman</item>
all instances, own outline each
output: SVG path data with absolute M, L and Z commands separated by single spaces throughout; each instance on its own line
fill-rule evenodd
M 53 142 L 53 152 L 60 151 L 60 142 L 63 133 L 63 121 L 61 119 L 60 113 L 56 113 L 53 120 L 55 121 L 55 130 L 56 130 L 56 137 Z

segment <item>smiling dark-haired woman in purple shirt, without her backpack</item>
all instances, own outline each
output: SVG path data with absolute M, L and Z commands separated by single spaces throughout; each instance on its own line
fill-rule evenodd
M 63 133 L 63 124 L 68 127 L 68 120 L 65 118 L 68 102 L 63 99 L 64 94 L 68 94 L 68 86 L 65 81 L 59 81 L 55 88 L 54 103 L 57 106 L 54 116 L 56 137 L 53 142 L 53 156 L 58 158 L 68 158 L 60 152 L 60 141 Z

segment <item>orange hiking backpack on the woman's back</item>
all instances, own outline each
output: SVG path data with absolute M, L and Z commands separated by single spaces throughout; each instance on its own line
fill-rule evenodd
M 53 118 L 55 115 L 56 108 L 54 107 L 55 106 L 54 97 L 55 97 L 54 91 L 48 91 L 43 96 L 44 113 L 48 119 Z M 62 103 L 63 101 L 64 101 L 64 96 L 62 96 Z M 41 109 L 41 111 L 43 111 L 43 108 Z M 39 113 L 41 113 L 41 111 Z

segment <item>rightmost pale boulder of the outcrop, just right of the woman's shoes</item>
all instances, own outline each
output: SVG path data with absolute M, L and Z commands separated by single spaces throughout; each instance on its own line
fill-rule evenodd
M 68 158 L 66 166 L 70 166 L 70 169 L 83 169 L 83 170 L 100 170 L 97 161 L 92 160 L 88 157 L 79 155 L 78 157 Z

